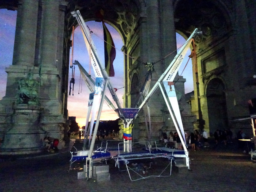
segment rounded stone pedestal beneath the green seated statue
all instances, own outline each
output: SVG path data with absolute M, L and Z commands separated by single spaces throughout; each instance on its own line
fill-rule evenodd
M 46 131 L 39 127 L 43 108 L 26 104 L 13 107 L 12 126 L 4 135 L 2 155 L 31 154 L 42 151 Z

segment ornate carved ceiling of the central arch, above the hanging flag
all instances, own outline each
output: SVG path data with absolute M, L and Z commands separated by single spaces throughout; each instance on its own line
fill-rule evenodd
M 104 22 L 112 25 L 122 35 L 124 43 L 131 31 L 136 27 L 136 22 L 141 12 L 139 0 L 69 0 L 68 12 L 79 10 L 85 21 L 101 21 L 97 13 L 104 11 Z M 71 30 L 76 21 L 70 14 L 67 15 L 68 28 Z

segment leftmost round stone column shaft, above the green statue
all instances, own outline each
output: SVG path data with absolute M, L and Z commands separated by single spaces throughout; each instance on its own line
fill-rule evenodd
M 34 66 L 38 0 L 18 4 L 13 65 Z

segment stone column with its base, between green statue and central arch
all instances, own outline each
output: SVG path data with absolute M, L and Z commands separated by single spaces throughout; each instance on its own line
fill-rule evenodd
M 59 149 L 65 144 L 63 137 L 66 116 L 63 116 L 63 107 L 65 107 L 65 105 L 63 106 L 63 93 L 66 96 L 67 89 L 63 79 L 65 78 L 63 68 L 68 68 L 68 60 L 67 58 L 63 59 L 62 48 L 65 34 L 63 25 L 66 5 L 65 2 L 56 0 L 42 2 L 42 40 L 39 61 L 42 66 L 42 86 L 40 87 L 39 99 L 44 108 L 42 111 L 42 128 L 49 133 L 48 136 L 59 139 Z M 66 57 L 66 53 L 64 56 Z M 63 63 L 63 61 L 66 62 Z

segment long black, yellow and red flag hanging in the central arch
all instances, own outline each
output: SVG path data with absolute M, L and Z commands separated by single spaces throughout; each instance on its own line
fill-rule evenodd
M 115 44 L 109 33 L 108 28 L 102 22 L 103 34 L 104 34 L 104 53 L 105 53 L 105 68 L 109 77 L 115 76 L 115 71 L 113 67 L 113 61 L 115 59 Z

